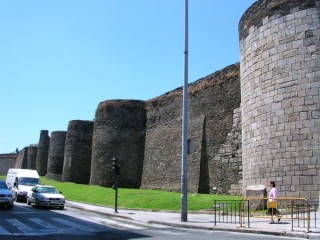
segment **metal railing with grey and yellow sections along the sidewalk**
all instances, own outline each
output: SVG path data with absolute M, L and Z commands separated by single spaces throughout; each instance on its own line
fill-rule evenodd
M 259 218 L 265 218 L 271 222 L 287 220 L 291 223 L 291 231 L 303 229 L 311 232 L 320 229 L 319 203 L 305 198 L 277 198 L 273 203 L 275 206 L 269 204 L 268 198 L 260 197 L 215 200 L 214 223 L 215 226 L 217 223 L 230 223 L 250 228 L 253 219 L 257 221 Z

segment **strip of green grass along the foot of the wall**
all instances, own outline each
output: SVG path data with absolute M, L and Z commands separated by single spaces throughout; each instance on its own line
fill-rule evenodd
M 5 176 L 0 176 L 5 179 Z M 58 182 L 41 177 L 41 183 L 55 186 L 67 200 L 114 207 L 115 190 L 112 188 Z M 188 210 L 212 209 L 214 200 L 239 200 L 240 197 L 214 194 L 188 194 Z M 148 210 L 180 210 L 181 193 L 161 190 L 118 189 L 118 207 Z

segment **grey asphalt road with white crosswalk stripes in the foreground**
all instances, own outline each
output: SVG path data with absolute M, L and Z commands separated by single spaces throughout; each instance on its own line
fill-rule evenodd
M 224 231 L 199 231 L 138 223 L 66 207 L 37 209 L 16 203 L 12 210 L 0 209 L 0 238 L 45 240 L 272 240 L 293 239 L 279 236 L 243 234 Z

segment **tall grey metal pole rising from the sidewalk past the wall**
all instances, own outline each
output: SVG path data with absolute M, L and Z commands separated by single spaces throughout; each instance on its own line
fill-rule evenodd
M 185 0 L 184 85 L 182 106 L 181 222 L 188 221 L 188 0 Z

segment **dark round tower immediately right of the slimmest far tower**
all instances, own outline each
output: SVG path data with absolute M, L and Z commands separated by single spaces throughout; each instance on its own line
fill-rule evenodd
M 66 131 L 51 133 L 49 144 L 47 178 L 61 181 Z

